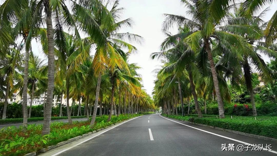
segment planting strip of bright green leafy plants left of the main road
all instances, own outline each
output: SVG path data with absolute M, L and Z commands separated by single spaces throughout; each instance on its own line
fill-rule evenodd
M 34 152 L 45 152 L 137 116 L 140 115 L 121 114 L 112 116 L 110 122 L 106 122 L 108 116 L 99 116 L 96 117 L 93 128 L 89 127 L 88 121 L 74 121 L 73 124 L 55 122 L 51 123 L 50 134 L 45 136 L 40 135 L 42 125 L 31 124 L 26 129 L 7 127 L 0 131 L 0 155 L 34 155 Z

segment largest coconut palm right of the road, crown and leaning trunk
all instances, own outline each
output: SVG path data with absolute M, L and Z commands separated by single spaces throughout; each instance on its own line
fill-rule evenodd
M 167 30 L 175 24 L 180 26 L 185 24 L 190 28 L 190 30 L 193 30 L 190 32 L 190 35 L 184 39 L 184 43 L 188 46 L 188 48 L 197 53 L 202 46 L 205 47 L 217 96 L 219 117 L 224 118 L 223 101 L 220 94 L 216 67 L 213 60 L 211 41 L 216 40 L 217 42 L 226 42 L 243 52 L 249 52 L 251 50 L 251 45 L 248 44 L 247 40 L 243 37 L 219 29 L 219 26 L 222 26 L 222 21 L 232 7 L 231 1 L 182 0 L 182 2 L 188 8 L 187 13 L 191 15 L 191 19 L 184 16 L 165 14 L 166 20 L 163 23 L 164 29 Z M 249 25 L 244 25 L 242 27 L 248 30 L 253 29 L 253 27 Z

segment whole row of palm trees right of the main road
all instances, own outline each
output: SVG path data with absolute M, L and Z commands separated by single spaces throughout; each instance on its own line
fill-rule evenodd
M 157 69 L 153 91 L 154 101 L 165 112 L 172 112 L 183 98 L 191 95 L 196 112 L 202 117 L 198 98 L 216 97 L 219 117 L 224 118 L 224 100 L 230 102 L 230 85 L 245 85 L 250 94 L 253 116 L 257 116 L 252 88 L 252 72 L 258 72 L 263 81 L 271 83 L 271 73 L 260 54 L 275 59 L 276 15 L 270 21 L 263 17 L 271 4 L 269 0 L 181 0 L 187 8 L 185 16 L 165 14 L 163 31 L 167 38 L 161 44 L 161 52 L 152 58 L 162 60 Z M 177 25 L 178 33 L 168 30 Z M 179 94 L 179 98 L 178 97 Z M 176 111 L 177 113 L 177 111 Z

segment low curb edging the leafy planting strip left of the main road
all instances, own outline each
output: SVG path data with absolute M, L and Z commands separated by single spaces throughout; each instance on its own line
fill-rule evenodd
M 149 115 L 149 114 L 146 114 L 146 115 Z M 133 118 L 130 118 L 130 119 L 133 119 Z M 127 120 L 130 120 L 130 119 L 127 119 Z M 123 121 L 121 121 L 121 122 L 125 122 L 125 121 L 127 121 L 127 120 L 123 120 Z M 99 131 L 101 131 L 101 130 L 103 130 L 103 129 L 109 128 L 109 127 L 114 126 L 114 125 L 116 125 L 116 124 L 119 124 L 119 123 L 121 123 L 121 122 L 116 122 L 115 124 L 111 124 L 110 126 L 106 126 L 105 128 L 100 128 L 100 129 L 97 129 L 96 131 L 89 132 L 89 133 L 87 133 L 87 134 L 83 134 L 83 135 L 77 136 L 77 137 L 75 137 L 75 138 L 68 139 L 68 140 L 63 141 L 63 142 L 60 142 L 60 143 L 58 143 L 58 144 L 56 144 L 56 145 L 51 145 L 51 146 L 45 147 L 45 148 L 43 148 L 43 149 L 40 149 L 40 150 L 37 151 L 37 152 L 32 152 L 32 153 L 25 154 L 24 156 L 36 156 L 36 155 L 39 154 L 39 153 L 45 153 L 45 152 L 47 152 L 48 150 L 51 150 L 51 149 L 60 147 L 60 146 L 65 145 L 65 144 L 68 144 L 68 143 L 70 143 L 70 142 L 73 142 L 73 141 L 75 141 L 75 140 L 81 139 L 81 138 L 86 137 L 86 136 L 88 136 L 88 135 L 91 135 L 91 134 L 93 134 L 93 133 L 99 132 Z

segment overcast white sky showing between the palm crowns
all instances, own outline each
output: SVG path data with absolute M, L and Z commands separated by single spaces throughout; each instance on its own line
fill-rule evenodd
M 132 17 L 135 24 L 132 29 L 125 29 L 122 32 L 130 32 L 141 35 L 145 41 L 142 45 L 136 45 L 138 53 L 130 56 L 129 63 L 138 63 L 142 69 L 139 73 L 142 75 L 143 86 L 148 94 L 152 94 L 155 80 L 152 71 L 161 65 L 157 60 L 151 60 L 150 54 L 159 52 L 159 45 L 165 39 L 161 32 L 161 25 L 164 21 L 163 13 L 185 15 L 186 9 L 181 5 L 180 0 L 121 0 L 120 7 L 125 7 L 122 19 Z M 276 11 L 276 3 L 271 5 L 271 11 L 268 12 L 266 19 L 269 20 Z M 189 17 L 189 15 L 185 15 Z M 175 31 L 176 32 L 176 31 Z M 173 32 L 173 33 L 175 33 Z M 39 44 L 33 42 L 32 48 L 36 55 L 44 58 Z M 268 61 L 268 58 L 265 58 Z

